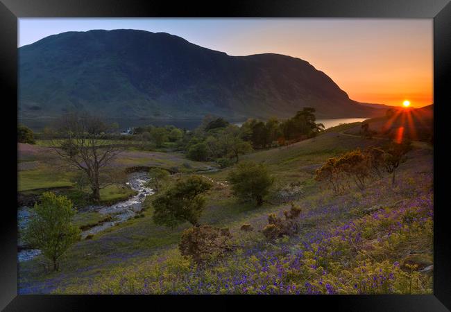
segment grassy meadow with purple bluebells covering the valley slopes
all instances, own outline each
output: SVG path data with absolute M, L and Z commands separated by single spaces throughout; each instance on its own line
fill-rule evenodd
M 76 243 L 60 272 L 45 272 L 42 257 L 19 263 L 19 293 L 431 293 L 432 149 L 416 146 L 407 154 L 395 187 L 385 175 L 363 191 L 350 187 L 336 196 L 314 180 L 316 168 L 329 157 L 378 144 L 343 130 L 242 156 L 241 162 L 267 164 L 276 179 L 258 208 L 232 196 L 230 168 L 209 172 L 214 164 L 189 161 L 181 153 L 124 151 L 112 168 L 159 166 L 212 180 L 201 223 L 228 227 L 235 251 L 196 268 L 177 248 L 189 225 L 155 225 L 148 205 L 143 218 Z M 55 172 L 43 144 L 21 144 L 19 155 L 19 191 L 73 186 L 71 171 Z M 117 186 L 101 198 L 118 200 L 130 191 Z M 268 214 L 282 215 L 291 202 L 302 209 L 300 233 L 266 241 L 259 230 Z M 101 220 L 99 214 L 84 213 L 74 222 Z M 244 223 L 255 230 L 241 232 Z

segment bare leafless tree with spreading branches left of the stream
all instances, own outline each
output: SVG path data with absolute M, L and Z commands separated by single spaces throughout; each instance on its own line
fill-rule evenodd
M 69 166 L 87 177 L 92 190 L 92 199 L 100 199 L 100 190 L 114 184 L 105 168 L 122 148 L 105 141 L 108 125 L 99 117 L 89 114 L 69 113 L 57 123 L 57 139 L 51 146 Z

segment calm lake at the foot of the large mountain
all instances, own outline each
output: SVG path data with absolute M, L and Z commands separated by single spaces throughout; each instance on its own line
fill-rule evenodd
M 339 125 L 341 123 L 355 123 L 357 121 L 361 122 L 366 120 L 366 118 L 338 118 L 338 119 L 318 119 L 317 123 L 323 123 L 325 129 L 334 127 L 335 125 Z M 127 128 L 139 127 L 142 125 L 174 125 L 177 128 L 193 130 L 198 125 L 201 124 L 202 119 L 119 119 L 112 118 L 106 119 L 108 123 L 118 123 L 119 130 L 124 130 Z M 21 119 L 19 121 L 23 123 L 28 128 L 35 132 L 40 132 L 44 127 L 51 125 L 54 122 L 54 119 Z M 241 126 L 244 121 L 235 121 L 233 122 L 235 125 Z

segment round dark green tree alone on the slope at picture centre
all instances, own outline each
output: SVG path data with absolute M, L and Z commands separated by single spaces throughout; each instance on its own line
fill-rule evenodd
M 228 175 L 232 191 L 242 200 L 254 200 L 257 206 L 263 205 L 263 198 L 268 195 L 274 183 L 264 164 L 242 163 Z

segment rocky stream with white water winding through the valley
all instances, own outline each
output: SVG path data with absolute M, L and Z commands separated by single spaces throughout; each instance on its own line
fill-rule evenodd
M 133 196 L 128 200 L 124 200 L 123 202 L 117 202 L 111 206 L 87 206 L 81 209 L 78 209 L 80 212 L 85 211 L 97 211 L 99 214 L 112 216 L 112 220 L 108 222 L 101 223 L 100 225 L 96 225 L 81 232 L 81 239 L 85 239 L 88 235 L 94 235 L 96 233 L 102 232 L 108 227 L 113 227 L 119 223 L 123 223 L 126 220 L 133 218 L 139 211 L 142 209 L 142 202 L 148 195 L 152 195 L 154 193 L 153 189 L 150 189 L 145 186 L 146 182 L 148 182 L 149 177 L 145 172 L 136 172 L 130 173 L 128 175 L 128 186 L 134 191 L 137 191 L 137 195 Z M 33 211 L 29 207 L 20 207 L 17 210 L 17 223 L 19 230 L 23 230 L 28 224 L 28 220 L 33 217 Z M 19 246 L 23 246 L 23 243 L 19 240 Z M 33 259 L 38 254 L 40 254 L 40 250 L 36 249 L 26 249 L 25 247 L 19 248 L 17 253 L 17 259 L 22 261 L 28 261 Z

